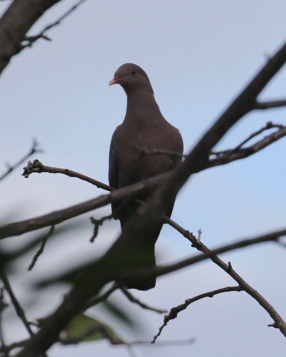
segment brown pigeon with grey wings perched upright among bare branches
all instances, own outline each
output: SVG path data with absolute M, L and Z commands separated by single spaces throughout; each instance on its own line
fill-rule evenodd
M 122 188 L 146 178 L 176 169 L 182 162 L 183 140 L 179 130 L 164 119 L 154 98 L 154 92 L 146 72 L 133 63 L 125 63 L 118 68 L 109 86 L 119 84 L 127 95 L 125 118 L 114 131 L 109 151 L 109 185 Z M 149 196 L 138 200 L 127 200 L 112 204 L 114 219 L 119 219 L 122 232 L 138 205 Z M 174 202 L 165 209 L 171 216 Z M 135 247 L 128 253 L 131 267 L 156 266 L 155 243 L 163 226 L 144 239 L 134 236 L 132 242 L 124 242 L 126 247 Z M 116 243 L 115 243 L 116 244 Z M 122 256 L 126 266 L 127 256 Z M 125 281 L 125 286 L 137 290 L 149 290 L 156 284 L 156 277 Z

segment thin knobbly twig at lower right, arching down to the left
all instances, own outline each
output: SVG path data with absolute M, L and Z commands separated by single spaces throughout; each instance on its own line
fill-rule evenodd
M 154 339 L 151 341 L 151 343 L 155 343 L 157 340 L 157 337 L 161 335 L 161 332 L 165 326 L 167 326 L 167 323 L 170 320 L 173 320 L 178 316 L 178 313 L 185 310 L 192 302 L 203 299 L 204 297 L 213 297 L 214 295 L 223 293 L 223 292 L 228 292 L 228 291 L 242 291 L 243 289 L 238 285 L 238 286 L 227 286 L 225 288 L 213 290 L 213 291 L 208 291 L 203 294 L 197 295 L 195 297 L 192 297 L 190 299 L 187 299 L 184 304 L 178 305 L 176 307 L 172 307 L 170 312 L 164 316 L 164 323 L 161 327 L 159 327 L 159 332 L 157 335 L 154 336 Z

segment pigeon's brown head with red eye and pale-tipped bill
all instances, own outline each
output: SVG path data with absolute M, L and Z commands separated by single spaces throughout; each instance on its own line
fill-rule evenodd
M 134 63 L 125 63 L 114 73 L 114 78 L 109 81 L 109 86 L 120 84 L 125 92 L 139 88 L 148 87 L 152 93 L 153 89 L 146 72 Z

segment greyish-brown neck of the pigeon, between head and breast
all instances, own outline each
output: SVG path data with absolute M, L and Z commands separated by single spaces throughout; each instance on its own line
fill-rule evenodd
M 154 120 L 163 118 L 159 106 L 154 98 L 152 89 L 139 88 L 127 93 L 127 108 L 124 122 L 134 120 Z M 130 123 L 131 124 L 131 123 Z M 139 123 L 138 123 L 139 124 Z

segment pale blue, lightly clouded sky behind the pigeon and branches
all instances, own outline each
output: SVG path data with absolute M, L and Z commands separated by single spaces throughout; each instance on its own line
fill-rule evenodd
M 48 11 L 30 34 L 63 14 L 73 1 L 61 1 Z M 1 1 L 5 11 L 8 2 Z M 39 40 L 15 56 L 1 76 L 0 164 L 11 164 L 28 151 L 33 137 L 45 150 L 35 154 L 45 165 L 69 168 L 107 183 L 108 151 L 112 133 L 125 114 L 126 99 L 120 86 L 108 87 L 114 71 L 134 62 L 147 72 L 162 114 L 181 130 L 185 152 L 216 120 L 286 39 L 286 4 L 283 1 L 86 1 L 63 23 L 48 32 L 51 42 Z M 261 99 L 286 98 L 283 68 L 261 94 Z M 243 118 L 218 145 L 239 144 L 267 121 L 285 124 L 285 109 L 253 112 Z M 237 238 L 285 227 L 286 140 L 282 139 L 252 157 L 194 175 L 179 193 L 172 218 L 216 247 Z M 0 170 L 1 171 L 1 170 Z M 1 182 L 5 205 L 1 215 L 15 219 L 38 216 L 98 196 L 103 191 L 63 175 L 31 175 L 17 169 Z M 94 216 L 110 211 L 105 207 Z M 23 259 L 12 277 L 15 290 L 26 305 L 33 296 L 24 282 L 63 270 L 65 264 L 91 259 L 117 237 L 118 222 L 106 223 L 96 243 L 86 225 L 64 239 L 51 241 L 32 272 L 31 256 Z M 33 236 L 9 238 L 8 246 Z M 156 244 L 158 263 L 168 263 L 196 252 L 171 227 L 164 226 Z M 222 256 L 286 318 L 283 271 L 286 252 L 274 244 L 246 248 Z M 189 282 L 189 284 L 188 284 Z M 156 288 L 134 295 L 151 305 L 171 308 L 186 298 L 227 285 L 235 285 L 211 262 L 159 278 Z M 65 290 L 62 288 L 61 293 Z M 47 297 L 48 296 L 48 297 Z M 44 303 L 30 307 L 29 318 L 54 309 L 60 293 L 54 289 Z M 114 325 L 127 340 L 151 340 L 163 316 L 141 311 L 116 293 L 146 326 L 139 336 Z M 43 306 L 44 305 L 44 306 Z M 103 312 L 97 311 L 102 317 Z M 8 314 L 10 338 L 25 337 L 17 320 Z M 114 323 L 108 317 L 110 323 Z M 135 347 L 138 356 L 281 355 L 282 334 L 267 327 L 271 318 L 246 293 L 233 292 L 199 301 L 169 322 L 161 340 L 196 337 L 192 346 Z M 12 332 L 13 331 L 13 332 Z M 7 334 L 8 335 L 8 334 Z M 11 342 L 12 342 L 11 341 Z M 237 351 L 235 350 L 237 346 Z M 77 347 L 53 347 L 49 356 L 78 356 L 100 351 L 105 356 L 128 356 L 105 342 Z

